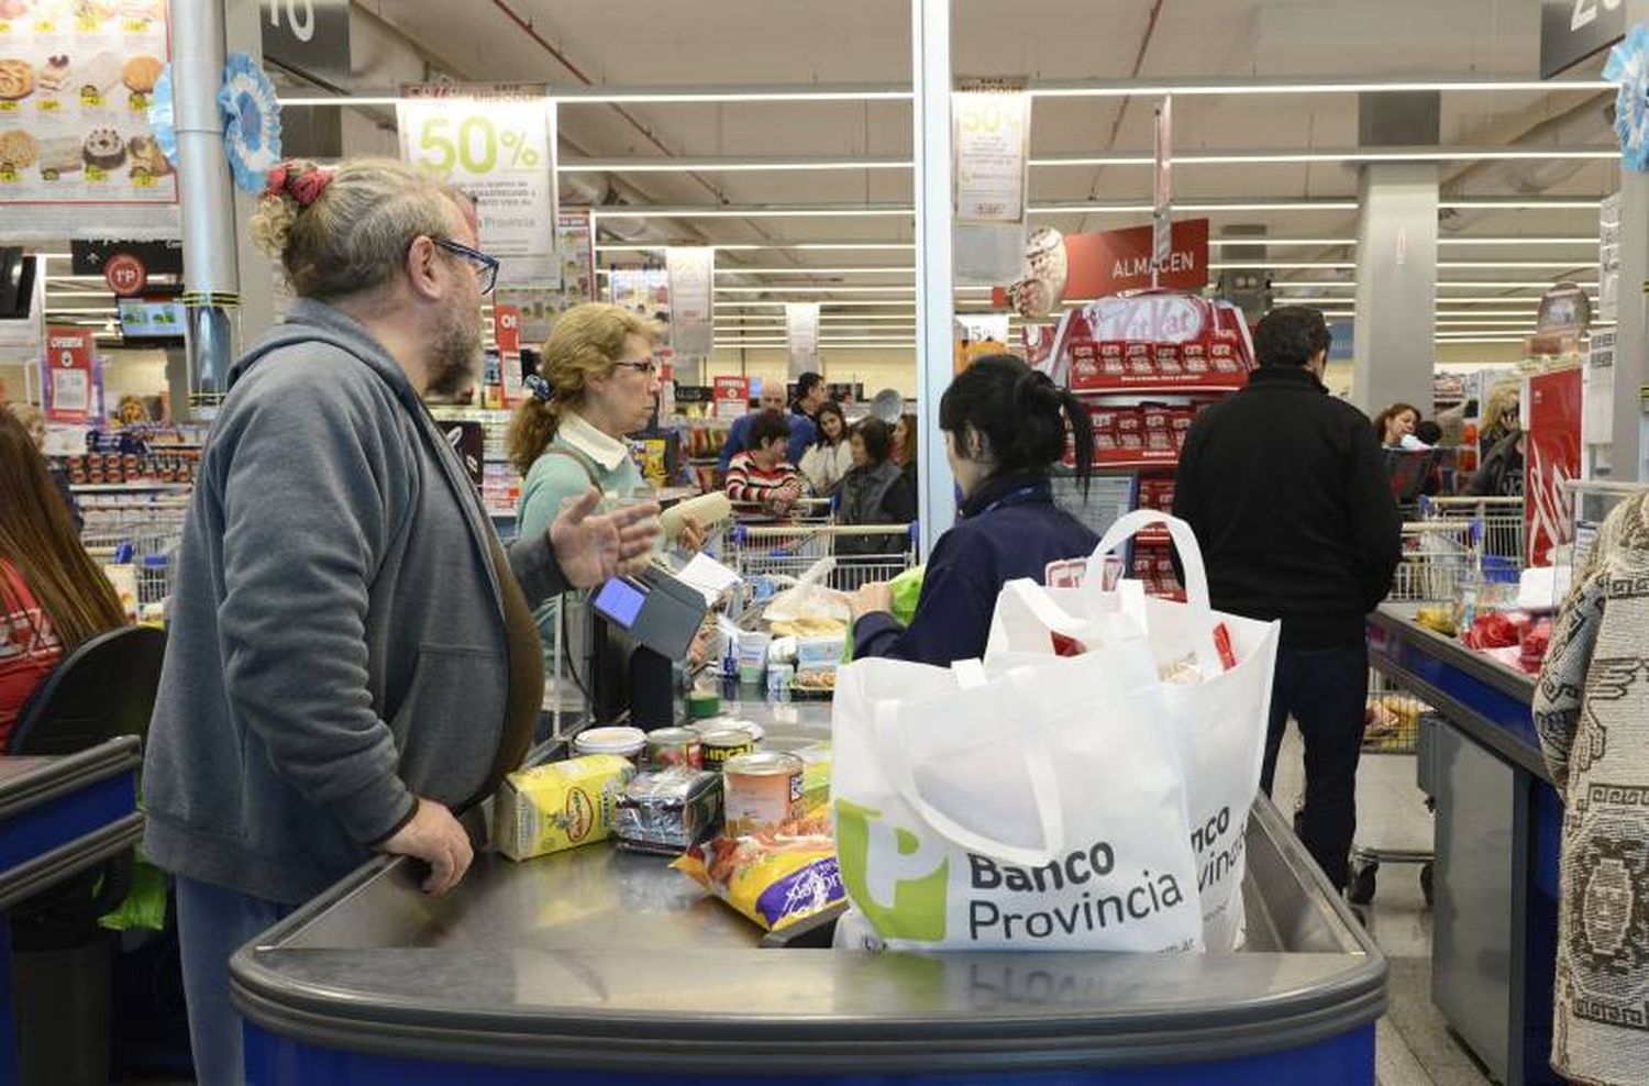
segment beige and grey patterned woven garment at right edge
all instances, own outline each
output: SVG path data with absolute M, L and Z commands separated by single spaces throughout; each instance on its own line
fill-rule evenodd
M 1568 811 L 1558 875 L 1552 1068 L 1636 1086 L 1649 1068 L 1642 906 L 1649 868 L 1649 491 L 1603 521 L 1552 623 L 1534 719 Z

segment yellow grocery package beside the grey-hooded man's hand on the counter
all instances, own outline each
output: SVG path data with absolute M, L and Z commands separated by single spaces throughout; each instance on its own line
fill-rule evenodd
M 618 755 L 516 770 L 493 799 L 493 839 L 511 860 L 576 849 L 612 834 L 613 804 L 635 776 Z

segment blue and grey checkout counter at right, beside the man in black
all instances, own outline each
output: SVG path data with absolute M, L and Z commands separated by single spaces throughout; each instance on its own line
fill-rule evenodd
M 1441 714 L 1421 725 L 1420 786 L 1436 801 L 1431 1000 L 1501 1083 L 1550 1070 L 1563 801 L 1530 704 L 1534 676 L 1387 603 L 1369 620 L 1375 671 Z

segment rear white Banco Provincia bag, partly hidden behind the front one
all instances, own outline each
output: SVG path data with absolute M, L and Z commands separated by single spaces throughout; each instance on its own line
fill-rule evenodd
M 1105 555 L 1141 529 L 1164 524 L 1179 550 L 1186 603 L 1144 595 L 1125 580 L 1103 592 Z M 1215 628 L 1224 626 L 1235 667 L 1220 661 Z M 1186 766 L 1186 807 L 1197 857 L 1204 943 L 1210 951 L 1237 949 L 1243 941 L 1243 844 L 1248 809 L 1260 789 L 1271 681 L 1281 626 L 1215 611 L 1209 577 L 1191 526 L 1164 513 L 1139 509 L 1120 517 L 1088 559 L 1080 588 L 1042 588 L 1012 582 L 998 598 L 986 667 L 1021 666 L 1055 653 L 1054 634 L 1090 651 L 1108 651 L 1143 638 L 1159 669 L 1194 661 L 1202 679 L 1158 681 L 1148 700 L 1151 727 L 1172 737 Z M 1103 715 L 1106 707 L 1095 707 Z

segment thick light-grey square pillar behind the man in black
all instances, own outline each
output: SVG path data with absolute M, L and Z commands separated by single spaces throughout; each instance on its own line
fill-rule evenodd
M 1352 402 L 1431 414 L 1438 280 L 1438 168 L 1375 163 L 1357 185 L 1357 343 Z

